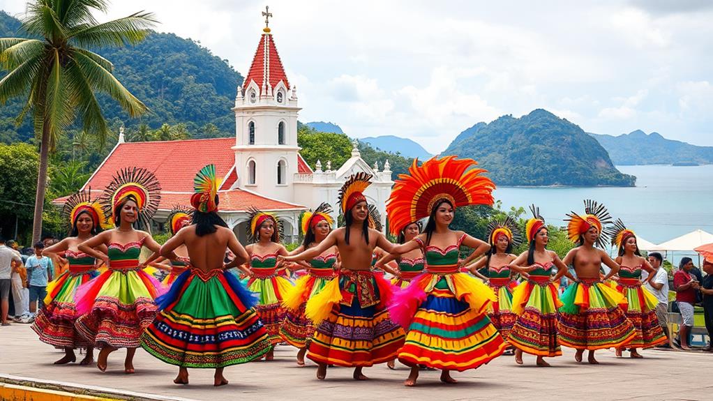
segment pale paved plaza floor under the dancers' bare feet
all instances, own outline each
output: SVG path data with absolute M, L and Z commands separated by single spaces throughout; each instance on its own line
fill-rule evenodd
M 419 386 L 401 383 L 408 368 L 397 370 L 378 365 L 364 370 L 368 382 L 352 380 L 352 369 L 330 368 L 327 380 L 314 377 L 316 366 L 298 368 L 295 349 L 279 346 L 276 360 L 227 368 L 230 385 L 212 387 L 212 370 L 190 370 L 190 385 L 174 385 L 178 368 L 138 350 L 136 373 L 123 373 L 124 351 L 113 353 L 108 371 L 96 366 L 54 366 L 61 351 L 41 343 L 29 325 L 0 328 L 0 380 L 31 377 L 66 383 L 68 386 L 98 386 L 139 392 L 135 399 L 162 400 L 712 400 L 713 354 L 646 350 L 643 360 L 615 358 L 608 350 L 597 351 L 601 365 L 575 363 L 573 350 L 565 348 L 560 358 L 548 359 L 551 368 L 536 368 L 535 358 L 525 356 L 525 365 L 513 357 L 501 357 L 478 370 L 453 373 L 457 385 L 438 382 L 437 372 L 423 372 Z M 79 359 L 79 358 L 78 358 Z

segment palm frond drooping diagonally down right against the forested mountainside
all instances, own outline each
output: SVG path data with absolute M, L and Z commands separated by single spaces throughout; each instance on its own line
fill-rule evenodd
M 128 112 L 130 117 L 136 117 L 148 110 L 140 100 L 135 98 L 128 89 L 121 85 L 114 75 L 111 75 L 106 68 L 100 66 L 96 61 L 93 61 L 92 58 L 78 51 L 71 51 L 70 55 L 76 62 L 77 67 L 81 69 L 83 75 L 86 77 L 89 86 L 93 88 L 93 90 L 98 90 L 99 92 L 110 95 Z

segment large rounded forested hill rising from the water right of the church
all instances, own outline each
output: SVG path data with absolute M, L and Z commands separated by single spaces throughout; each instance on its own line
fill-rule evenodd
M 578 125 L 541 109 L 478 123 L 443 155 L 472 157 L 499 185 L 631 186 L 636 180 L 619 172 Z

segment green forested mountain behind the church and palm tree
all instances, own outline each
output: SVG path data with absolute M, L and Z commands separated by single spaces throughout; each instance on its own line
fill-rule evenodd
M 18 32 L 19 27 L 17 19 L 0 12 L 0 36 L 26 36 Z M 252 52 L 252 48 L 245 51 Z M 110 126 L 123 123 L 131 132 L 141 124 L 158 129 L 165 123 L 185 123 L 188 132 L 196 136 L 234 135 L 235 117 L 230 108 L 243 77 L 200 42 L 152 32 L 135 46 L 98 49 L 97 53 L 113 63 L 116 78 L 150 110 L 141 118 L 130 119 L 116 102 L 101 96 L 99 102 Z M 0 108 L 0 141 L 25 141 L 33 135 L 31 118 L 19 129 L 14 127 L 21 105 L 21 100 L 15 99 Z M 202 132 L 209 133 L 200 135 Z

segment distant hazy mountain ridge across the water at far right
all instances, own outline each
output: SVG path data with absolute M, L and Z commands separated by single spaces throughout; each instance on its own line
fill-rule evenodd
M 618 136 L 590 134 L 609 152 L 615 165 L 713 164 L 713 146 L 668 140 L 658 132 L 635 130 Z

